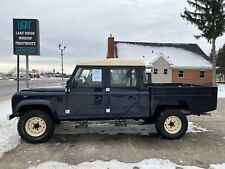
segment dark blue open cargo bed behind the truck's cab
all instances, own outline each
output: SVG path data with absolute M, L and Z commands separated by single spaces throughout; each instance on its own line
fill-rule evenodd
M 193 84 L 152 84 L 149 86 L 151 112 L 159 105 L 186 107 L 200 115 L 217 107 L 217 87 Z

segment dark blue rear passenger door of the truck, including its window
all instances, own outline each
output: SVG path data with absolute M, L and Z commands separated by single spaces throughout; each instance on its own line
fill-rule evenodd
M 123 118 L 139 115 L 138 69 L 108 67 L 106 117 Z

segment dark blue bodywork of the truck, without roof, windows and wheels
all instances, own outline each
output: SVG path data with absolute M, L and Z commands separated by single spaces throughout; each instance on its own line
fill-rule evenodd
M 101 87 L 76 87 L 73 79 L 78 68 L 102 69 Z M 134 68 L 134 87 L 110 86 L 111 68 Z M 23 107 L 46 106 L 57 120 L 100 120 L 151 118 L 159 107 L 189 109 L 200 115 L 216 109 L 217 88 L 191 84 L 144 84 L 144 66 L 77 66 L 66 88 L 35 88 L 12 97 L 13 114 Z

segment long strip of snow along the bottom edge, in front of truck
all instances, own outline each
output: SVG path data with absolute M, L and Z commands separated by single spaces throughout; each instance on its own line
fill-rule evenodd
M 117 160 L 94 162 L 84 162 L 78 165 L 69 165 L 61 162 L 47 161 L 38 166 L 30 167 L 29 169 L 200 169 L 195 166 L 181 166 L 169 160 L 162 159 L 146 159 L 139 163 L 123 163 Z

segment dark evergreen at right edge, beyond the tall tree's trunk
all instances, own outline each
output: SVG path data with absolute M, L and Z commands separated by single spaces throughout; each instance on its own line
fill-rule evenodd
M 218 73 L 225 75 L 225 44 L 218 51 L 217 66 Z

